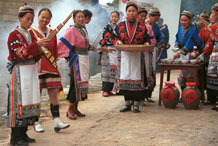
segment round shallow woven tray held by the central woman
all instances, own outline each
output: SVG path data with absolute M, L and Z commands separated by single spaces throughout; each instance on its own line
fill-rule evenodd
M 152 45 L 130 45 L 130 44 L 123 44 L 123 45 L 116 45 L 117 50 L 120 51 L 129 51 L 129 52 L 147 52 L 153 51 L 154 46 Z

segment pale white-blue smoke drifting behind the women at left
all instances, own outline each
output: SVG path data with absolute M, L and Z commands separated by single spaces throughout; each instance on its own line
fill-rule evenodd
M 34 18 L 34 23 L 32 24 L 32 27 L 37 26 L 38 24 L 38 12 L 42 7 L 40 5 L 39 7 L 36 8 L 35 10 L 35 18 Z M 79 3 L 78 0 L 62 0 L 62 1 L 56 1 L 53 2 L 49 7 L 51 9 L 53 17 L 51 20 L 51 28 L 54 29 L 56 28 L 61 22 L 65 20 L 65 18 L 72 12 L 72 10 L 84 10 L 84 9 L 89 9 L 93 12 L 93 17 L 92 21 L 90 24 L 88 24 L 87 30 L 89 34 L 89 39 L 90 43 L 94 40 L 95 36 L 99 33 L 99 31 L 103 30 L 103 27 L 106 25 L 108 22 L 108 14 L 105 9 L 103 9 L 99 4 L 96 5 L 91 5 L 91 4 L 85 4 L 85 3 Z M 7 40 L 9 33 L 13 31 L 16 26 L 19 25 L 18 20 L 13 23 L 9 22 L 3 22 L 0 21 L 0 31 L 1 31 L 1 38 L 0 38 L 0 97 L 3 97 L 0 99 L 0 111 L 1 107 L 6 105 L 6 98 L 7 98 L 7 89 L 6 89 L 6 84 L 8 83 L 9 80 L 9 73 L 6 68 L 7 64 L 7 57 L 8 57 L 8 47 L 7 47 Z M 71 18 L 66 25 L 60 30 L 60 32 L 57 34 L 57 38 L 59 39 L 63 33 L 66 31 L 67 28 L 69 28 L 70 25 L 73 25 L 73 19 Z M 96 41 L 97 43 L 98 41 Z M 62 61 L 64 62 L 64 61 Z M 96 52 L 91 52 L 90 53 L 90 75 L 94 75 L 97 72 L 100 71 L 99 67 L 96 65 L 97 62 L 97 53 Z M 68 69 L 67 63 L 61 64 L 59 66 L 60 70 L 61 68 L 64 68 L 66 66 L 66 70 Z M 65 75 L 66 74 L 66 75 Z M 67 76 L 68 71 L 66 71 L 62 76 L 62 79 Z M 68 80 L 68 78 L 66 78 Z M 66 85 L 63 83 L 63 85 Z M 4 101 L 4 102 L 3 102 Z

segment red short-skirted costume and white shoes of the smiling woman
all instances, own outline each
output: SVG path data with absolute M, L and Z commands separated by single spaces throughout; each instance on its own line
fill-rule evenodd
M 48 36 L 52 30 L 50 28 L 47 28 L 47 32 L 43 33 L 39 28 L 32 28 L 30 31 L 34 32 L 34 35 L 36 35 L 37 38 L 42 39 L 46 36 Z M 50 43 L 48 44 L 48 47 L 46 47 L 50 53 L 52 54 L 52 57 L 49 59 L 54 59 L 56 61 L 58 50 L 57 50 L 57 37 L 54 36 Z M 56 67 L 54 67 L 53 60 L 51 60 L 52 63 L 46 59 L 46 57 L 43 55 L 41 57 L 41 60 L 37 62 L 38 65 L 38 73 L 39 73 L 39 80 L 40 80 L 40 89 L 47 88 L 48 89 L 48 95 L 50 98 L 50 110 L 52 117 L 55 121 L 55 131 L 57 132 L 59 129 L 63 129 L 68 127 L 68 124 L 63 124 L 60 121 L 60 112 L 59 112 L 59 105 L 58 105 L 58 89 L 62 87 L 61 85 L 61 78 L 58 70 Z M 39 122 L 35 123 L 35 130 L 37 132 L 42 132 L 43 129 Z

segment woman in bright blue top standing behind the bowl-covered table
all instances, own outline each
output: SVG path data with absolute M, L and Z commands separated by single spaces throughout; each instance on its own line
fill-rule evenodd
M 197 30 L 192 26 L 192 18 L 193 14 L 189 11 L 183 11 L 180 18 L 180 28 L 176 34 L 175 48 L 179 48 L 179 50 L 175 53 L 174 58 L 179 58 L 182 55 L 187 56 L 189 59 L 189 55 L 193 50 L 194 46 L 198 47 L 198 50 L 201 51 L 203 49 L 203 43 L 198 35 Z M 193 73 L 189 71 L 181 70 L 178 81 L 181 89 L 185 88 L 186 82 L 193 81 Z

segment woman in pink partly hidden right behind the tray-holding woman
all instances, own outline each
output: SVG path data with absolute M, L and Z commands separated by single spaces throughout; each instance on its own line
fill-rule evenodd
M 145 23 L 145 19 L 147 17 L 147 10 L 143 7 L 139 7 L 138 10 L 138 16 L 137 19 L 139 22 L 143 23 L 146 25 L 148 34 L 149 34 L 149 39 L 151 42 L 151 45 L 155 46 L 156 45 L 156 39 L 155 39 L 155 35 L 154 32 L 152 30 L 152 27 Z M 151 99 L 148 98 L 147 95 L 149 95 L 150 91 L 153 91 L 154 87 L 155 87 L 155 73 L 154 71 L 156 70 L 156 53 L 155 52 L 144 52 L 144 58 L 145 58 L 145 68 L 146 68 L 146 77 L 147 77 L 147 89 L 145 90 L 145 93 L 143 95 L 143 99 L 140 102 L 140 105 L 145 105 L 144 104 L 144 100 L 145 98 L 148 101 L 153 101 Z M 151 96 L 149 96 L 151 97 Z

